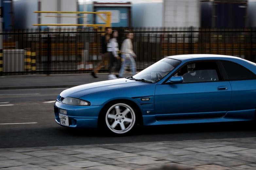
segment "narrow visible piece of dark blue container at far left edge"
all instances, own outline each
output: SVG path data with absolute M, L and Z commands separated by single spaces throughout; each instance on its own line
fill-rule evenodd
M 12 7 L 12 0 L 6 1 L 1 0 L 2 6 L 2 14 L 3 14 L 3 28 L 6 29 L 13 29 L 13 7 Z

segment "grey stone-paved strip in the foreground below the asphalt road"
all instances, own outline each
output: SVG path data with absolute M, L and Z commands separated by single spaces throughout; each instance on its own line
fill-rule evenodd
M 256 138 L 0 149 L 0 170 L 146 170 L 162 165 L 255 170 Z

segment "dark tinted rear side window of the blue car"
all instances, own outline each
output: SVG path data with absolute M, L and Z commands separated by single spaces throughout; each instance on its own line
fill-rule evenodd
M 230 81 L 255 79 L 256 76 L 239 64 L 221 61 Z

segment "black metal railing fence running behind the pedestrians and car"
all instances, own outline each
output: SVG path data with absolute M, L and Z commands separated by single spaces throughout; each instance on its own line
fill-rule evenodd
M 222 54 L 256 61 L 256 28 L 112 28 L 121 47 L 126 31 L 134 33 L 137 70 L 170 55 Z M 101 60 L 100 37 L 94 29 L 40 32 L 4 30 L 1 75 L 90 73 Z M 2 57 L 1 57 L 2 56 Z M 129 69 L 128 69 L 129 70 Z M 108 63 L 100 70 L 108 72 Z

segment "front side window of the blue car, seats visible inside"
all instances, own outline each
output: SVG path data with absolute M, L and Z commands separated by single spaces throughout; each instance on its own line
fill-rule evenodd
M 182 83 L 222 80 L 221 73 L 215 61 L 187 64 L 175 76 L 182 76 Z

